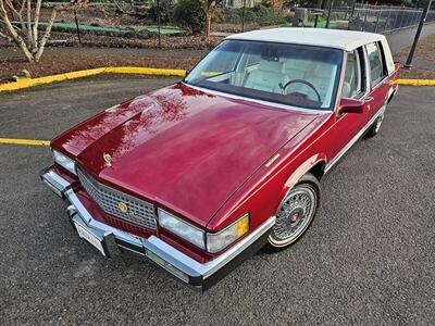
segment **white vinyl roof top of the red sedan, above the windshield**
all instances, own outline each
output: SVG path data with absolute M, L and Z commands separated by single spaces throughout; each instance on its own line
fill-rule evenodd
M 374 41 L 381 40 L 383 42 L 386 42 L 385 37 L 380 34 L 340 29 L 298 27 L 252 30 L 247 33 L 234 34 L 226 37 L 226 39 L 308 45 L 337 48 L 346 51 L 352 51 L 358 47 Z

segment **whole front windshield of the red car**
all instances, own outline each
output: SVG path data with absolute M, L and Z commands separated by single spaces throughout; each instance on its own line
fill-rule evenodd
M 252 99 L 331 110 L 341 59 L 338 49 L 225 40 L 184 82 Z

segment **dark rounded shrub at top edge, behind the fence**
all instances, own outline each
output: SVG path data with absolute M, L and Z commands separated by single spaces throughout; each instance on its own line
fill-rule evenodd
M 201 33 L 206 26 L 206 14 L 198 0 L 179 0 L 174 9 L 175 25 L 191 33 Z

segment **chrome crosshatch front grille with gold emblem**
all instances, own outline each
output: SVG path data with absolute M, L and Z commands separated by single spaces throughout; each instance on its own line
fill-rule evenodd
M 86 192 L 105 213 L 156 229 L 154 208 L 152 204 L 101 185 L 78 167 L 77 176 Z

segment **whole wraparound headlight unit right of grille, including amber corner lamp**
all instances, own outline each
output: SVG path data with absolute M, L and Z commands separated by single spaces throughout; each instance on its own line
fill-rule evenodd
M 158 209 L 158 215 L 161 227 L 201 249 L 207 249 L 210 253 L 219 252 L 228 247 L 249 230 L 248 213 L 216 234 L 206 233 L 162 209 Z

